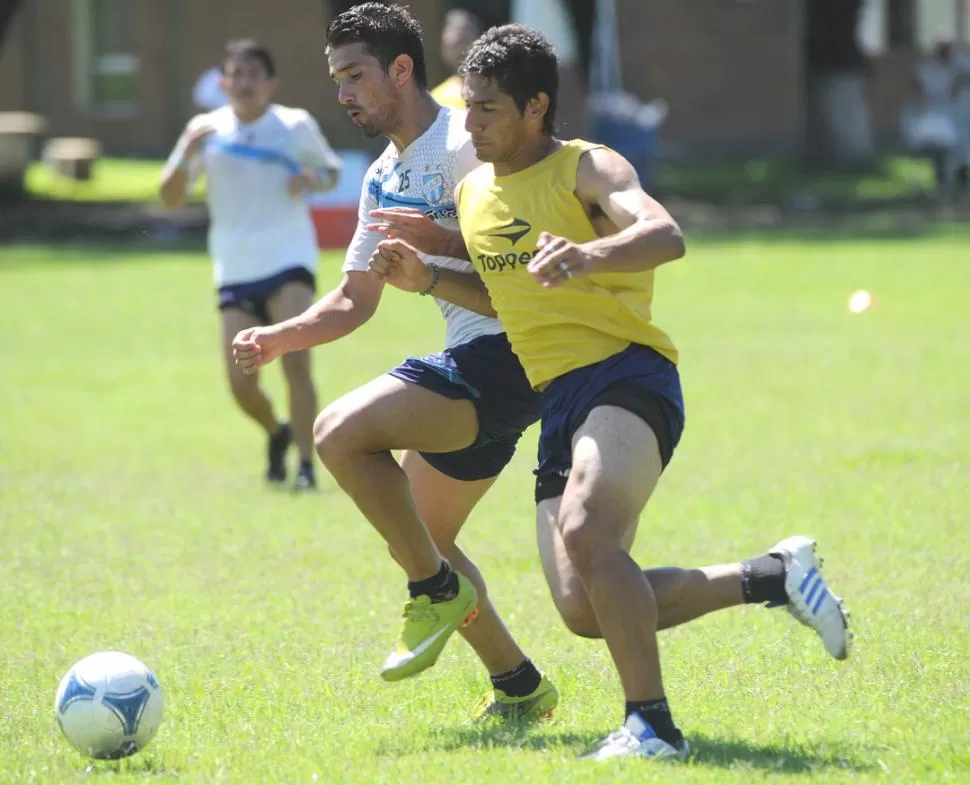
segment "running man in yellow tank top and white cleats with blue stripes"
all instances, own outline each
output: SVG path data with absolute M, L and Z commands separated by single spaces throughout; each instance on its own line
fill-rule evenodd
M 651 319 L 654 270 L 683 255 L 680 229 L 622 156 L 553 136 L 558 70 L 541 35 L 493 28 L 462 73 L 466 128 L 485 162 L 457 192 L 477 275 L 423 265 L 411 246 L 444 240 L 403 216 L 385 216 L 397 239 L 382 245 L 371 269 L 399 288 L 482 313 L 491 302 L 542 391 L 536 504 L 546 580 L 566 625 L 606 640 L 623 686 L 625 721 L 591 757 L 684 757 L 657 630 L 768 602 L 786 606 L 844 659 L 841 600 L 803 536 L 701 570 L 644 573 L 631 558 L 640 515 L 684 425 L 677 350 Z M 678 593 L 682 614 L 669 604 Z

